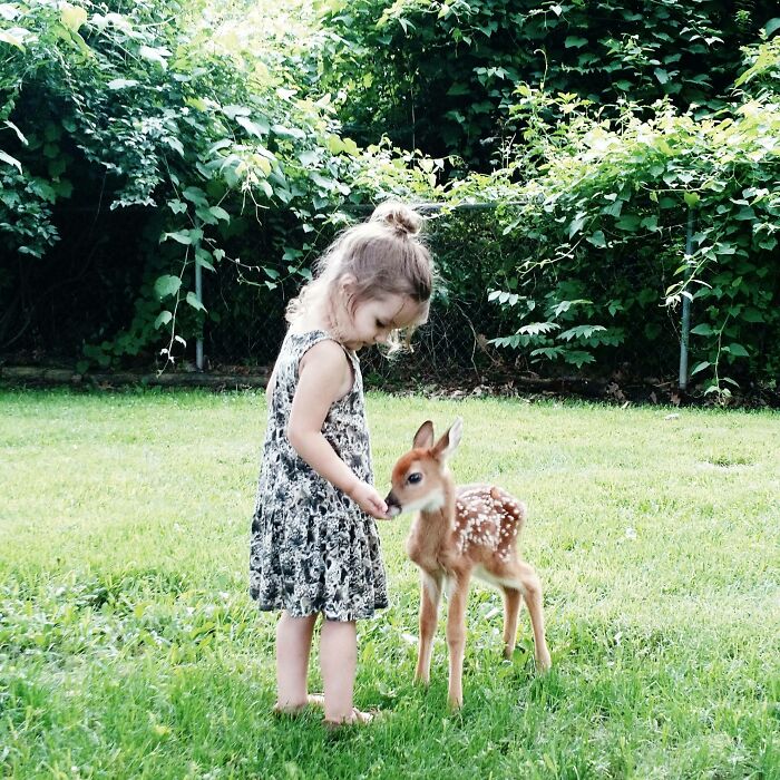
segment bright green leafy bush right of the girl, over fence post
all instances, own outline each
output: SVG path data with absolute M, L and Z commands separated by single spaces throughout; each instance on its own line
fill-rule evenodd
M 763 84 L 774 84 L 767 77 L 779 51 L 777 41 L 750 49 L 738 85 L 752 94 L 702 119 L 664 101 L 649 119 L 627 106 L 611 120 L 573 96 L 519 88 L 528 146 L 500 176 L 543 163 L 516 186 L 523 205 L 504 220 L 530 251 L 491 294 L 515 320 L 495 343 L 576 365 L 605 347 L 657 353 L 663 320 L 688 296 L 693 373 L 706 371 L 720 390 L 738 374 L 776 376 L 780 100 Z M 550 103 L 574 118 L 548 128 Z M 685 254 L 689 211 L 695 230 Z

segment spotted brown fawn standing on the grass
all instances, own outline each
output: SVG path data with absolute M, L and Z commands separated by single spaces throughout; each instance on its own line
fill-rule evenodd
M 515 649 L 520 597 L 534 628 L 536 665 L 550 665 L 545 640 L 542 584 L 534 569 L 517 555 L 517 537 L 525 506 L 506 490 L 490 485 L 456 488 L 447 461 L 462 433 L 462 420 L 433 443 L 433 423 L 423 422 L 412 449 L 392 470 L 392 489 L 386 499 L 388 515 L 418 511 L 407 555 L 420 568 L 420 643 L 415 679 L 428 684 L 433 632 L 442 588 L 448 593 L 449 703 L 464 703 L 462 671 L 466 644 L 465 613 L 471 575 L 504 593 L 504 656 Z

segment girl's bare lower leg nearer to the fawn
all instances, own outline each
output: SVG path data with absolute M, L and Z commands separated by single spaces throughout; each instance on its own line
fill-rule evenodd
M 354 671 L 358 661 L 358 635 L 354 621 L 329 621 L 322 624 L 320 665 L 325 685 L 325 720 L 352 722 Z

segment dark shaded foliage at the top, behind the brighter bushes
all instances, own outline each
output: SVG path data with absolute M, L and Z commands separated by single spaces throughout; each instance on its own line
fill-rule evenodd
M 331 0 L 326 84 L 355 138 L 488 169 L 523 128 L 517 84 L 597 105 L 723 106 L 771 0 Z

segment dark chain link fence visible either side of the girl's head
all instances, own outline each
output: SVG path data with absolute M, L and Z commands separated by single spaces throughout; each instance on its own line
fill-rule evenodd
M 433 208 L 427 211 L 430 215 Z M 484 246 L 491 243 L 495 247 L 497 242 L 493 227 L 479 216 L 484 211 L 462 212 L 458 218 L 465 223 L 458 231 L 452 230 L 451 216 L 427 221 L 425 241 L 439 275 L 429 319 L 415 331 L 411 350 L 397 358 L 388 359 L 378 349 L 361 354 L 363 373 L 374 386 L 409 378 L 446 382 L 467 374 L 476 381 L 488 370 L 503 371 L 514 364 L 514 354 L 488 343 L 503 333 L 500 309 L 488 301 L 495 285 L 495 257 Z M 241 287 L 235 274 L 226 273 L 206 285 L 204 303 L 218 320 L 212 319 L 204 329 L 206 368 L 263 368 L 276 358 L 286 329 L 284 305 L 296 287 L 260 291 L 254 296 Z M 237 296 L 241 311 L 232 306 Z

